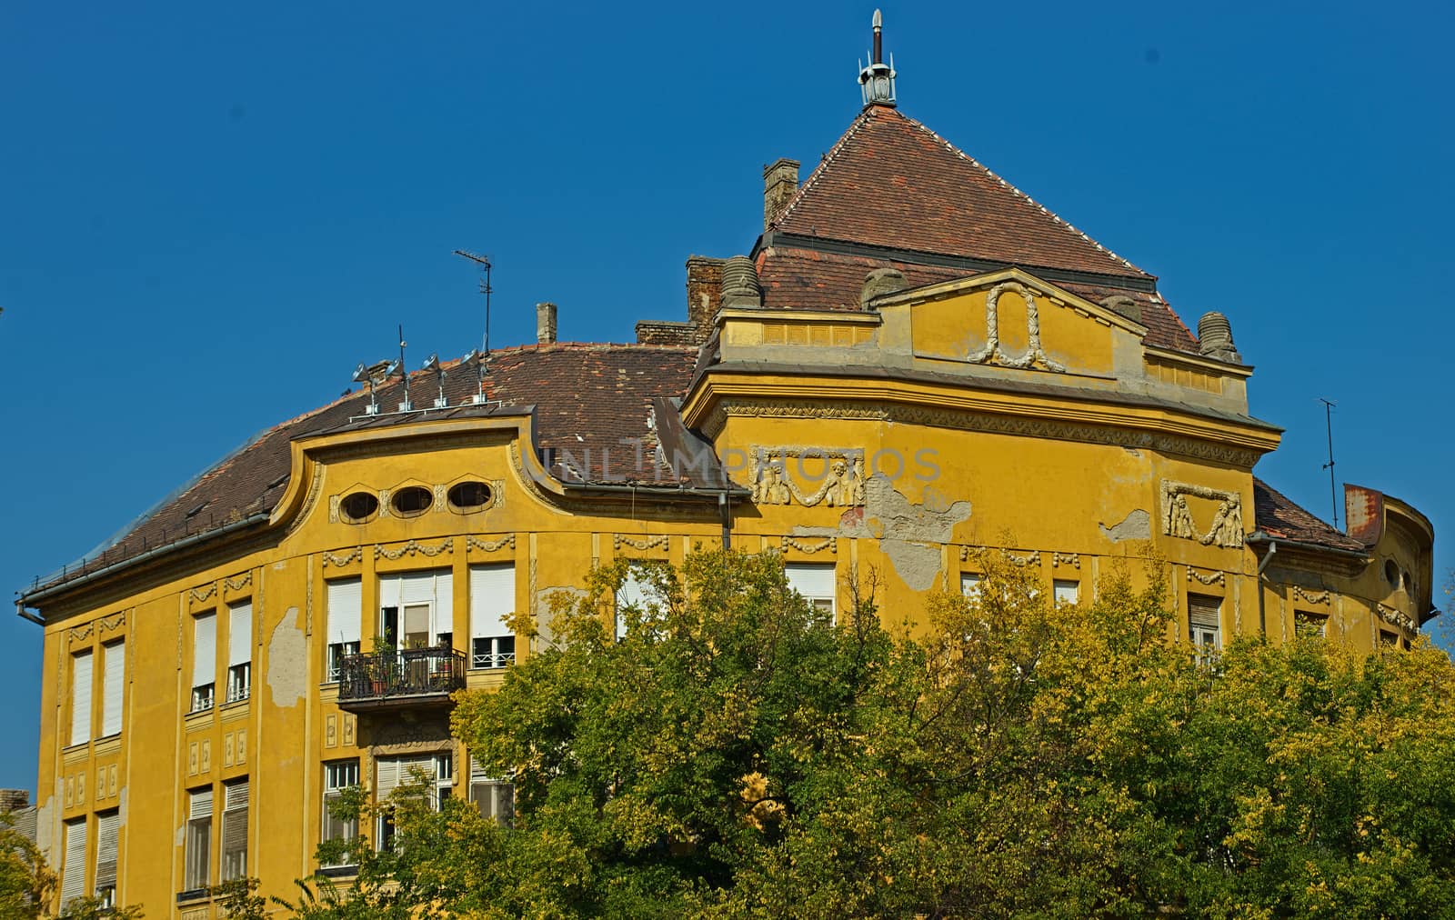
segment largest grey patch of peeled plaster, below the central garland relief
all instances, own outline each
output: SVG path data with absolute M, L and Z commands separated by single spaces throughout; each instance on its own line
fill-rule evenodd
M 909 588 L 928 591 L 940 575 L 941 544 L 953 542 L 954 526 L 969 517 L 968 501 L 952 502 L 925 489 L 924 502 L 917 505 L 888 476 L 874 473 L 864 482 L 864 507 L 844 511 L 838 527 L 796 527 L 793 534 L 879 540 L 895 574 Z

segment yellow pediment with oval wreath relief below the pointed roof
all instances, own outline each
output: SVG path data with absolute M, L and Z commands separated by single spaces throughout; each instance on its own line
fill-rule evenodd
M 1147 326 L 1010 268 L 873 301 L 908 310 L 914 357 L 930 362 L 1113 377 Z

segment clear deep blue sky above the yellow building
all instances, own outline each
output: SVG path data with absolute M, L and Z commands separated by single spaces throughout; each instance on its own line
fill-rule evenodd
M 0 585 L 80 556 L 263 427 L 479 344 L 684 319 L 761 169 L 858 109 L 873 6 L 0 6 Z M 886 4 L 901 108 L 1231 320 L 1257 472 L 1455 526 L 1446 7 Z M 1455 565 L 1440 542 L 1438 584 Z M 1439 603 L 1439 601 L 1438 601 Z M 1455 619 L 1455 617 L 1452 617 Z M 0 616 L 0 786 L 35 783 L 39 629 Z

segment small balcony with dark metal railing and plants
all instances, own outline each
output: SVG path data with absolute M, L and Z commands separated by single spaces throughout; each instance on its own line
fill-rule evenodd
M 447 706 L 464 687 L 464 652 L 453 648 L 386 649 L 339 661 L 339 709 L 378 712 Z

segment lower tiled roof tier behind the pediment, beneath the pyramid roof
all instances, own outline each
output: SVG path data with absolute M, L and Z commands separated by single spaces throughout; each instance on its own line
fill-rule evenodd
M 917 265 L 813 249 L 767 247 L 758 253 L 762 306 L 799 310 L 858 310 L 858 294 L 864 285 L 864 275 L 876 268 L 899 269 L 909 287 L 954 281 L 975 274 L 965 268 Z M 1029 271 L 1035 274 L 1033 269 Z M 1197 351 L 1197 339 L 1160 294 L 1069 281 L 1055 281 L 1053 284 L 1091 303 L 1100 303 L 1112 296 L 1131 297 L 1142 309 L 1148 345 Z

